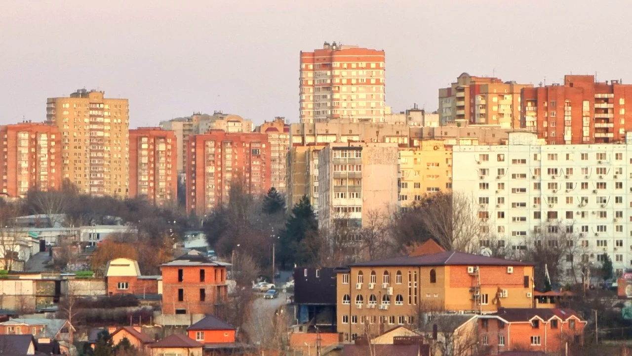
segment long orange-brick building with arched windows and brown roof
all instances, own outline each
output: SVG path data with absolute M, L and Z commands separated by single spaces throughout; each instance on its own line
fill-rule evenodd
M 495 312 L 530 308 L 533 265 L 441 252 L 360 262 L 337 274 L 337 332 L 353 338 L 415 324 L 427 310 Z

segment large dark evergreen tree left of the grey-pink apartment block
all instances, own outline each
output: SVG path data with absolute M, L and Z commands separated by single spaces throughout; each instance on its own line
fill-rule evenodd
M 310 239 L 318 234 L 318 222 L 307 196 L 292 208 L 292 213 L 281 231 L 281 266 L 310 262 Z

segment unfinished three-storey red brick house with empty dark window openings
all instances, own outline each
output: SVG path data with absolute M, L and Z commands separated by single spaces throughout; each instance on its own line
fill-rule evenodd
M 162 268 L 162 314 L 212 314 L 228 298 L 226 265 L 192 250 Z

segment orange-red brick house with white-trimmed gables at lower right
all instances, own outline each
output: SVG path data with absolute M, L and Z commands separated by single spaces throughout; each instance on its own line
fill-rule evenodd
M 566 343 L 581 343 L 586 321 L 572 309 L 504 308 L 478 317 L 480 345 L 490 355 L 526 350 L 560 352 Z

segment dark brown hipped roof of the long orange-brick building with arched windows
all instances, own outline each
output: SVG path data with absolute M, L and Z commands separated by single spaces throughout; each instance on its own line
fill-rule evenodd
M 533 264 L 527 263 L 527 262 L 521 262 L 521 261 L 514 261 L 514 260 L 504 260 L 502 258 L 473 255 L 471 253 L 446 251 L 446 252 L 432 253 L 431 255 L 401 256 L 401 257 L 394 257 L 394 258 L 386 258 L 384 260 L 359 262 L 357 264 L 352 264 L 351 266 L 372 267 L 372 266 L 444 266 L 444 265 L 526 266 L 526 265 L 533 265 Z

